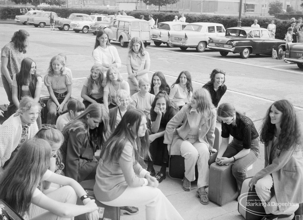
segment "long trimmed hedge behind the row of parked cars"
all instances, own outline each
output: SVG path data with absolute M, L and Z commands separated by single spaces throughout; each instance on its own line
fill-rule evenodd
M 22 7 L 20 7 L 22 8 Z M 20 15 L 20 8 L 18 7 L 0 7 L 0 19 L 14 19 L 15 15 Z M 58 14 L 58 16 L 62 18 L 68 17 L 71 13 L 101 13 L 112 15 L 118 10 L 100 10 L 97 8 L 58 8 L 58 7 L 49 7 L 48 11 L 53 11 Z M 148 15 L 152 14 L 154 19 L 158 19 L 158 22 L 164 21 L 172 21 L 175 15 L 178 17 L 181 16 L 178 12 L 159 12 L 159 11 L 141 11 L 141 10 L 133 10 L 126 11 L 127 15 L 134 16 L 135 18 L 139 18 L 140 15 L 144 15 L 145 20 L 148 20 Z M 285 14 L 284 14 L 285 15 Z M 238 16 L 222 16 L 222 15 L 205 15 L 205 14 L 185 14 L 186 22 L 215 22 L 223 24 L 225 28 L 235 27 L 237 26 Z M 294 15 L 291 15 L 294 16 Z M 297 16 L 298 17 L 298 16 Z M 258 24 L 262 28 L 267 28 L 267 25 L 271 23 L 271 20 L 275 20 L 275 24 L 277 25 L 276 30 L 276 38 L 284 39 L 287 28 L 290 26 L 289 20 L 280 20 L 277 18 L 265 18 L 265 17 L 255 17 L 255 16 L 246 16 L 241 18 L 241 26 L 251 26 L 254 20 L 258 19 Z

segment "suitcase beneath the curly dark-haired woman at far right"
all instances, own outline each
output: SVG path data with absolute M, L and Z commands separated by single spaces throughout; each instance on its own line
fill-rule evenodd
M 251 177 L 248 177 L 242 183 L 241 194 L 238 198 L 238 212 L 246 220 L 260 220 L 268 215 L 265 213 L 262 202 L 256 193 L 255 186 L 252 190 L 248 186 L 250 180 Z

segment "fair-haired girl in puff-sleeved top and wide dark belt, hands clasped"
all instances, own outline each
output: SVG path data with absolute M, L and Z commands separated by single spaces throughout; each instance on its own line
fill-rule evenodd
M 47 102 L 47 124 L 54 125 L 57 112 L 62 113 L 72 94 L 72 81 L 72 76 L 65 71 L 65 59 L 54 56 L 49 64 L 48 74 L 44 77 L 50 96 Z

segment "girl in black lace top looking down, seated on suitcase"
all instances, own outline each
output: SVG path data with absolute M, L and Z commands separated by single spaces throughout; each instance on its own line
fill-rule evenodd
M 236 112 L 232 104 L 219 105 L 217 114 L 222 120 L 222 142 L 218 152 L 211 156 L 208 164 L 234 163 L 232 174 L 237 180 L 238 192 L 240 192 L 242 182 L 247 177 L 246 169 L 259 156 L 259 135 L 251 119 Z M 233 139 L 228 143 L 230 135 Z

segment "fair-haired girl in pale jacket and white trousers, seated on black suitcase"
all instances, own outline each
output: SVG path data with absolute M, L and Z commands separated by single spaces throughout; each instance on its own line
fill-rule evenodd
M 183 122 L 183 125 L 180 124 Z M 191 190 L 191 181 L 195 180 L 195 165 L 198 166 L 198 190 L 196 197 L 200 203 L 209 202 L 205 187 L 208 186 L 209 148 L 214 145 L 216 109 L 211 103 L 209 92 L 205 88 L 195 90 L 191 102 L 181 108 L 167 123 L 164 144 L 169 144 L 170 155 L 184 157 L 185 174 L 183 189 Z M 178 128 L 179 127 L 179 128 Z M 176 132 L 175 132 L 176 128 Z

